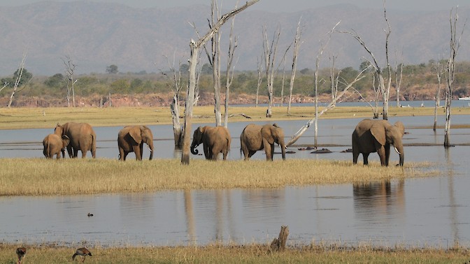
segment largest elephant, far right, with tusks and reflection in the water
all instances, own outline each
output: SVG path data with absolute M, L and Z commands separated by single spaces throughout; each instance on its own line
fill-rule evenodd
M 405 127 L 399 121 L 392 125 L 387 120 L 362 120 L 352 132 L 352 162 L 356 164 L 362 153 L 364 165 L 368 165 L 369 154 L 377 152 L 380 165 L 388 166 L 391 144 L 400 156 L 399 166 L 403 166 L 405 152 L 401 138 L 404 133 Z

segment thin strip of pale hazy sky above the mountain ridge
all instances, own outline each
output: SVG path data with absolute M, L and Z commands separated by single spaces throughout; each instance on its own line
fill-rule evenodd
M 0 6 L 19 6 L 27 3 L 36 3 L 43 0 L 1 0 Z M 55 1 L 89 1 L 89 0 L 55 0 Z M 160 7 L 169 8 L 176 6 L 190 6 L 194 3 L 209 5 L 211 0 L 93 0 L 96 2 L 122 3 L 134 8 Z M 246 0 L 240 1 L 245 3 Z M 236 0 L 218 1 L 223 8 L 232 8 Z M 269 12 L 295 12 L 306 8 L 329 6 L 336 3 L 354 3 L 359 7 L 382 8 L 382 0 L 260 0 L 250 9 L 266 10 Z M 400 10 L 442 10 L 453 8 L 457 5 L 469 6 L 469 0 L 388 0 L 387 9 Z

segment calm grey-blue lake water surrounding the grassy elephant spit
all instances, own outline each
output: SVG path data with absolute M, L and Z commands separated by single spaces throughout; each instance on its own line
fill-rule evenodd
M 468 124 L 469 116 L 453 116 L 453 124 Z M 392 118 L 390 122 L 398 119 Z M 378 182 L 364 185 L 285 187 L 282 189 L 223 189 L 159 191 L 97 196 L 1 197 L 0 237 L 6 242 L 71 244 L 175 245 L 222 242 L 271 242 L 280 226 L 290 228 L 290 243 L 327 240 L 344 244 L 432 244 L 450 247 L 470 244 L 470 129 L 453 129 L 456 147 L 441 147 L 443 131 L 422 126 L 433 117 L 400 117 L 409 134 L 405 163 L 430 161 L 442 172 L 429 179 Z M 331 154 L 290 150 L 287 159 L 352 159 L 341 153 L 360 119 L 320 120 L 319 142 Z M 305 121 L 277 122 L 286 140 Z M 229 124 L 232 152 L 241 159 L 239 135 L 249 122 Z M 443 119 L 439 119 L 443 124 Z M 52 125 L 53 126 L 53 125 Z M 193 124 L 193 129 L 196 125 Z M 155 138 L 154 159 L 180 159 L 173 152 L 170 126 L 150 126 Z M 99 158 L 117 159 L 116 138 L 121 127 L 97 127 Z M 0 131 L 0 157 L 42 157 L 41 141 L 53 129 Z M 25 142 L 26 141 L 26 142 Z M 312 144 L 313 128 L 297 144 Z M 201 147 L 199 147 L 201 148 Z M 145 150 L 144 150 L 145 152 Z M 90 156 L 90 152 L 88 153 Z M 148 159 L 148 152 L 144 156 Z M 133 154 L 129 154 L 129 159 Z M 192 156 L 202 159 L 201 156 Z M 255 159 L 265 159 L 258 152 Z M 274 159 L 280 159 L 276 155 Z M 378 161 L 376 154 L 369 159 Z M 398 155 L 392 154 L 391 163 Z M 158 160 L 151 161 L 158 162 Z M 311 172 L 318 173 L 318 172 Z M 158 175 L 156 175 L 158 176 Z M 87 217 L 87 213 L 94 214 Z

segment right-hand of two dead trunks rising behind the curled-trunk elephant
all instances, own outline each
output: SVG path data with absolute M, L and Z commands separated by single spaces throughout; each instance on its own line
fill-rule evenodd
M 238 1 L 236 1 L 235 8 L 236 6 L 238 6 Z M 235 16 L 232 18 L 232 26 L 230 27 L 229 54 L 227 58 L 227 71 L 225 72 L 225 112 L 224 112 L 225 128 L 228 128 L 228 124 L 229 124 L 230 86 L 232 85 L 232 81 L 234 80 L 234 71 L 235 71 L 235 66 L 233 65 L 234 52 L 236 50 L 236 47 L 238 46 L 238 38 L 234 37 L 234 24 L 235 24 Z

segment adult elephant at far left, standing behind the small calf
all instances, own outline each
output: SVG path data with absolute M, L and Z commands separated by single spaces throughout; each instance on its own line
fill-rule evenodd
M 89 150 L 92 152 L 93 158 L 97 157 L 97 134 L 94 133 L 90 124 L 75 122 L 68 122 L 62 126 L 57 124 L 55 133 L 69 137 L 70 143 L 67 145 L 67 152 L 71 158 L 78 156 L 78 150 L 82 152 L 82 159 L 85 159 Z

